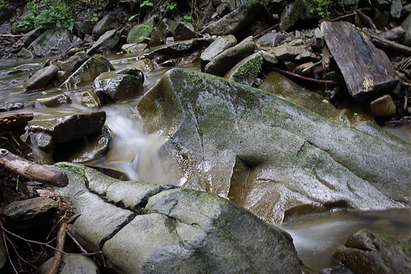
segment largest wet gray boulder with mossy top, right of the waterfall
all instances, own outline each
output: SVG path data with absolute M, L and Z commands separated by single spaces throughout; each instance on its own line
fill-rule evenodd
M 262 90 L 182 69 L 167 72 L 138 111 L 147 132 L 165 137 L 168 182 L 229 197 L 270 223 L 410 203 L 410 144 L 375 125 L 343 127 Z

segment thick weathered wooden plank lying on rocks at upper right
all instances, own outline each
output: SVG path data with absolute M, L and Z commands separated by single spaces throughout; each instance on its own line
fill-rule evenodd
M 361 29 L 341 21 L 323 22 L 321 31 L 353 99 L 371 101 L 397 85 L 387 55 Z

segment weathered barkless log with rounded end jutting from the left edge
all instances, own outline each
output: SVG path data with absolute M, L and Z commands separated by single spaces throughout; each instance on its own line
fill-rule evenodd
M 69 184 L 69 178 L 64 171 L 51 169 L 47 166 L 30 162 L 29 160 L 14 155 L 7 149 L 0 149 L 0 166 L 27 179 L 49 184 L 51 186 L 58 186 L 61 188 Z

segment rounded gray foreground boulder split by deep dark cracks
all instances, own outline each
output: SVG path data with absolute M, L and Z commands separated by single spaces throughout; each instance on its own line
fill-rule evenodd
M 290 236 L 227 199 L 58 165 L 73 235 L 117 273 L 301 273 Z

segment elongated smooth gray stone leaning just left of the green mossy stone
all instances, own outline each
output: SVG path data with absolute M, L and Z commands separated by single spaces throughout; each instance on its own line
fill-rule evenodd
M 245 38 L 234 47 L 226 49 L 219 55 L 216 55 L 206 67 L 204 71 L 212 75 L 223 76 L 240 60 L 246 58 L 256 49 L 256 43 L 253 42 L 252 36 Z

